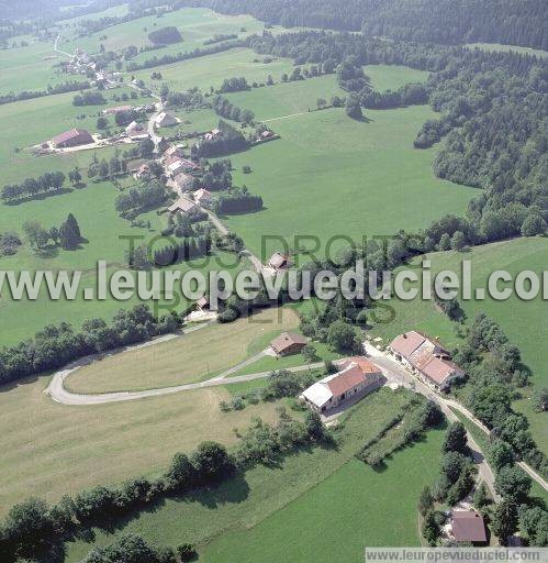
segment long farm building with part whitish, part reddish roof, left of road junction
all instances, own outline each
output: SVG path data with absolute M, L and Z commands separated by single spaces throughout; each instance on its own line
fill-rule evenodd
M 317 412 L 328 413 L 349 406 L 384 383 L 380 368 L 365 357 L 346 358 L 339 367 L 339 372 L 316 382 L 301 395 Z

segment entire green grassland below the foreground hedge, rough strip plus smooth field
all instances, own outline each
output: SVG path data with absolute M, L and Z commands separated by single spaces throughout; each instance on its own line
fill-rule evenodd
M 67 544 L 67 562 L 130 532 L 160 544 L 194 542 L 208 563 L 304 561 L 299 538 L 313 550 L 306 561 L 345 563 L 361 561 L 366 544 L 418 544 L 416 500 L 437 472 L 443 432 L 429 432 L 425 442 L 395 454 L 380 473 L 354 461 L 403 405 L 401 395 L 382 389 L 353 409 L 338 449 L 303 450 L 216 489 L 168 499 L 114 533 L 97 531 L 93 543 Z

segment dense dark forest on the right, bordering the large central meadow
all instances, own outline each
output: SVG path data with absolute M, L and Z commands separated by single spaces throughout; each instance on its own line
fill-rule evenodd
M 407 100 L 421 102 L 426 93 L 440 115 L 424 124 L 415 146 L 428 147 L 445 136 L 434 161 L 435 174 L 481 189 L 469 206 L 467 243 L 537 234 L 530 229 L 535 224 L 538 232 L 546 229 L 548 65 L 543 59 L 317 31 L 277 36 L 266 32 L 247 44 L 260 54 L 318 65 L 324 73 L 337 68 L 340 87 L 366 108 L 378 100 L 364 77 L 364 65 L 400 64 L 433 71 L 426 92 L 417 90 L 416 98 Z M 402 89 L 414 90 L 411 85 Z

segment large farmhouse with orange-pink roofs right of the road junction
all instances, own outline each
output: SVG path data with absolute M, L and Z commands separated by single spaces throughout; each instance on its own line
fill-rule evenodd
M 437 340 L 417 331 L 396 336 L 390 352 L 405 367 L 436 390 L 444 390 L 462 377 L 462 369 L 451 362 L 449 352 Z

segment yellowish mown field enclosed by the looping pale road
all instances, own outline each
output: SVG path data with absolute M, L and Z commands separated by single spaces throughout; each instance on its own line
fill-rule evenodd
M 109 355 L 75 372 L 66 386 L 75 393 L 108 393 L 199 382 L 243 362 L 250 350 L 264 350 L 298 325 L 292 309 L 265 309 L 233 323 L 211 324 L 154 346 Z

